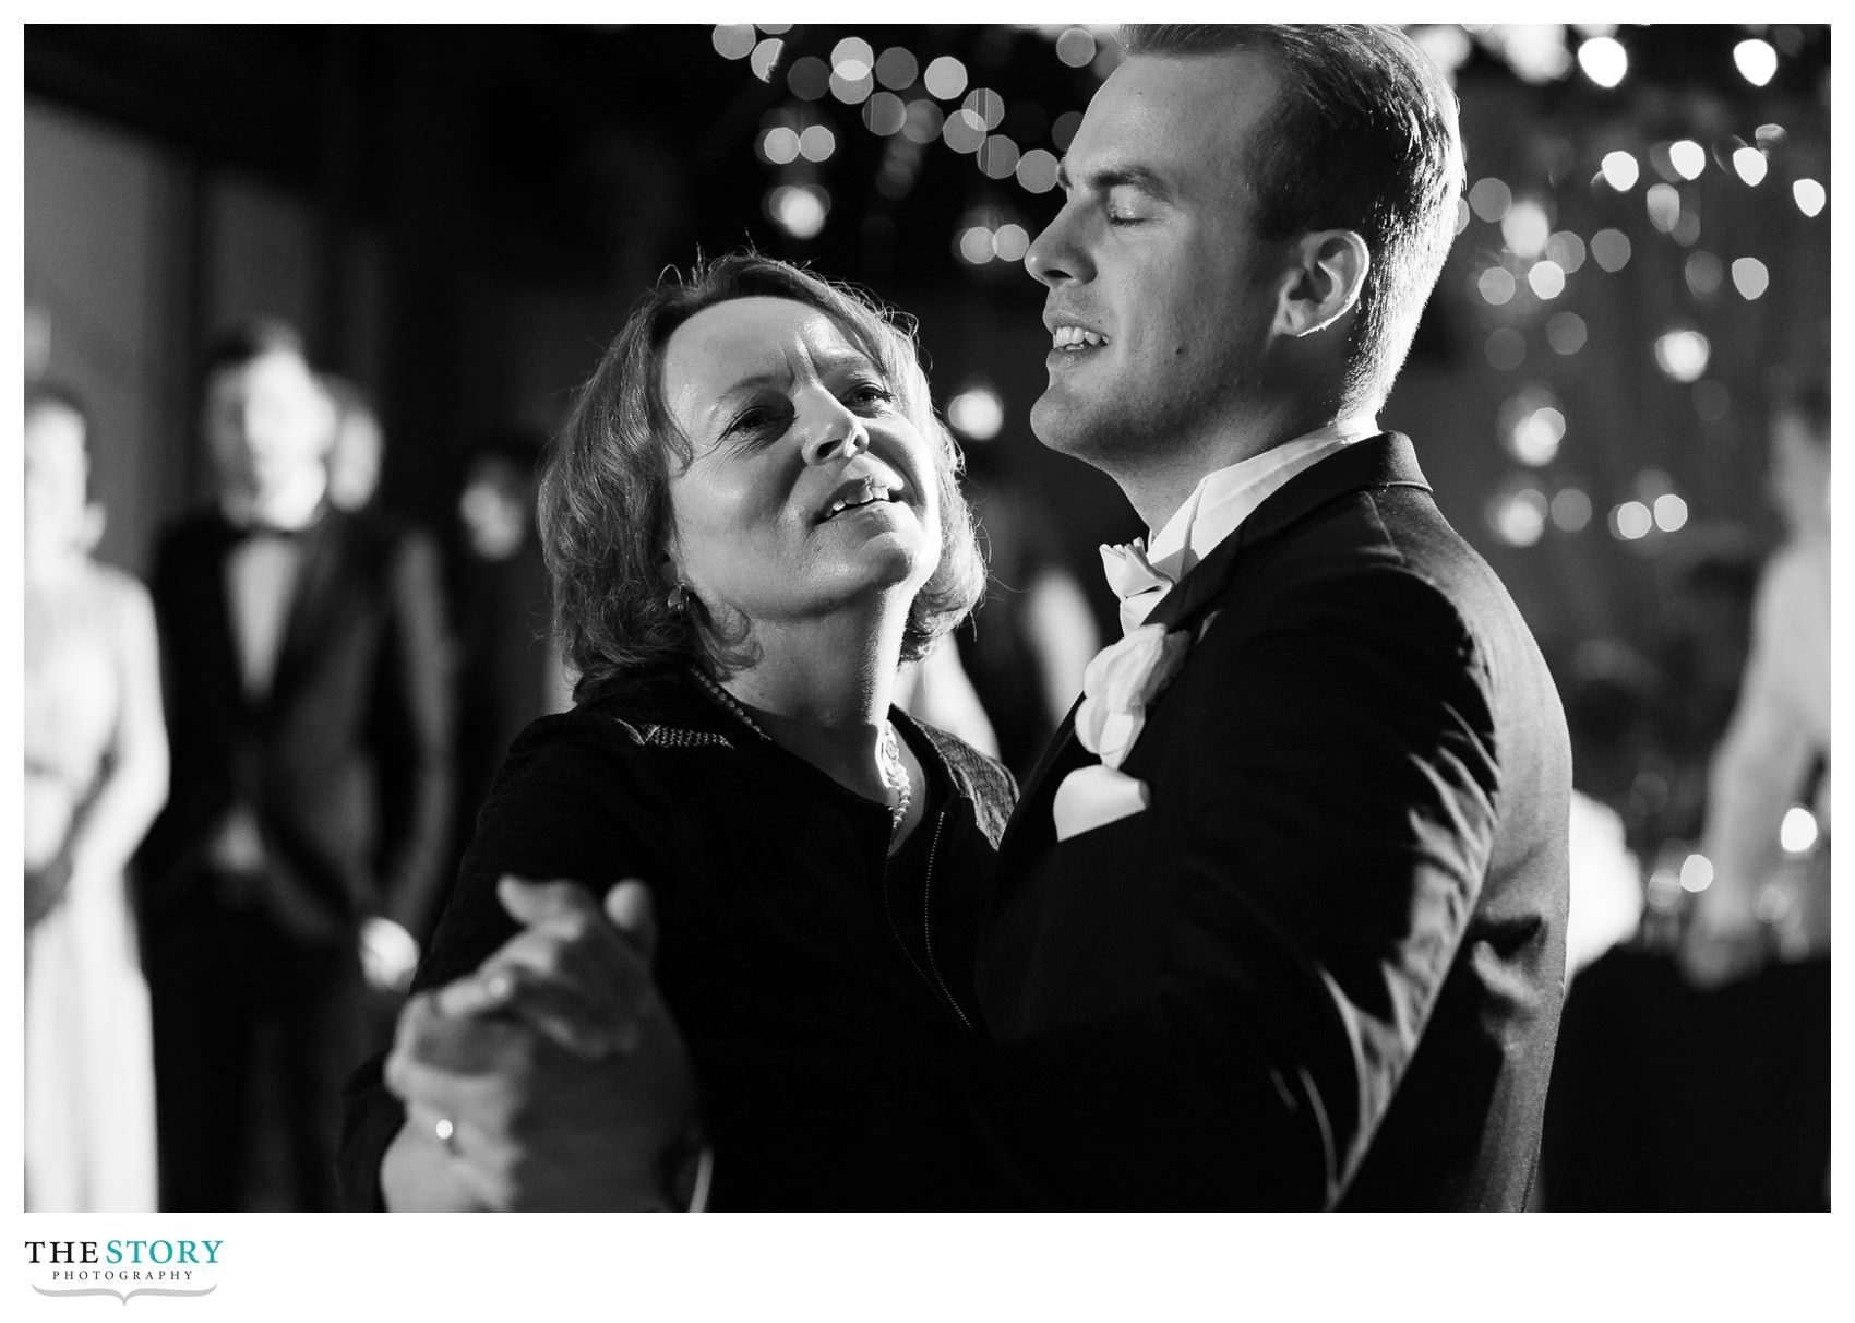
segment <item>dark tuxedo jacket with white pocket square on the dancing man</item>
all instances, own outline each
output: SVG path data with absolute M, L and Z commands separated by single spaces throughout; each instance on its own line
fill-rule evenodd
M 994 1043 L 894 1136 L 903 1197 L 1525 1206 L 1571 753 L 1506 590 L 1386 434 L 1271 495 L 1150 622 L 1193 640 L 1122 764 L 1150 803 L 1057 842 L 1093 761 L 1057 731 L 981 933 Z

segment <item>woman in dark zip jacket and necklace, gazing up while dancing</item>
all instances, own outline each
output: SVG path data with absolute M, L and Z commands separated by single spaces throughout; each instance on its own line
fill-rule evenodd
M 657 983 L 727 1154 L 714 1204 L 857 1202 L 816 1154 L 976 1035 L 1011 807 L 996 763 L 892 707 L 983 583 L 911 334 L 759 256 L 660 286 L 556 442 L 542 527 L 577 707 L 510 750 L 417 987 L 523 969 L 508 911 L 547 902 L 508 874 L 649 878 Z M 354 1202 L 503 1202 L 506 1136 L 408 1097 L 356 1082 Z

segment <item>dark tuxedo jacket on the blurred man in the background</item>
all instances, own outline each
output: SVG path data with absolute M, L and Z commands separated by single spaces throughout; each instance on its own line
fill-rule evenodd
M 301 534 L 271 692 L 250 701 L 226 588 L 239 536 L 197 514 L 156 555 L 173 774 L 143 848 L 150 928 L 217 904 L 204 850 L 243 800 L 267 855 L 250 904 L 295 941 L 352 943 L 367 915 L 419 933 L 449 865 L 454 781 L 436 547 L 388 516 L 326 510 Z

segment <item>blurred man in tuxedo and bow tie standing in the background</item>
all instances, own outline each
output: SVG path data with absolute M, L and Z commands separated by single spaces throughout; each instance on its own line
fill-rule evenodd
M 289 327 L 230 334 L 202 390 L 219 499 L 156 555 L 173 792 L 141 876 L 167 1210 L 247 1206 L 252 1137 L 278 1130 L 282 1197 L 334 1206 L 364 987 L 410 982 L 443 881 L 436 553 L 328 503 L 332 423 Z

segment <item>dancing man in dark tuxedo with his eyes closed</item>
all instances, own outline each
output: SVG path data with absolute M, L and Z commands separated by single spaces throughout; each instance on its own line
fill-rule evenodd
M 846 1206 L 1523 1208 L 1566 726 L 1512 599 L 1376 423 L 1454 234 L 1454 96 L 1393 30 L 1126 41 L 1026 262 L 1052 336 L 1031 423 L 1154 531 L 1104 547 L 1130 633 L 1004 839 L 976 948 L 992 1043 L 818 1154 L 820 1184 Z M 390 1078 L 480 1106 L 445 1071 L 445 995 L 416 1009 Z M 534 1061 L 506 1076 L 523 1097 Z

